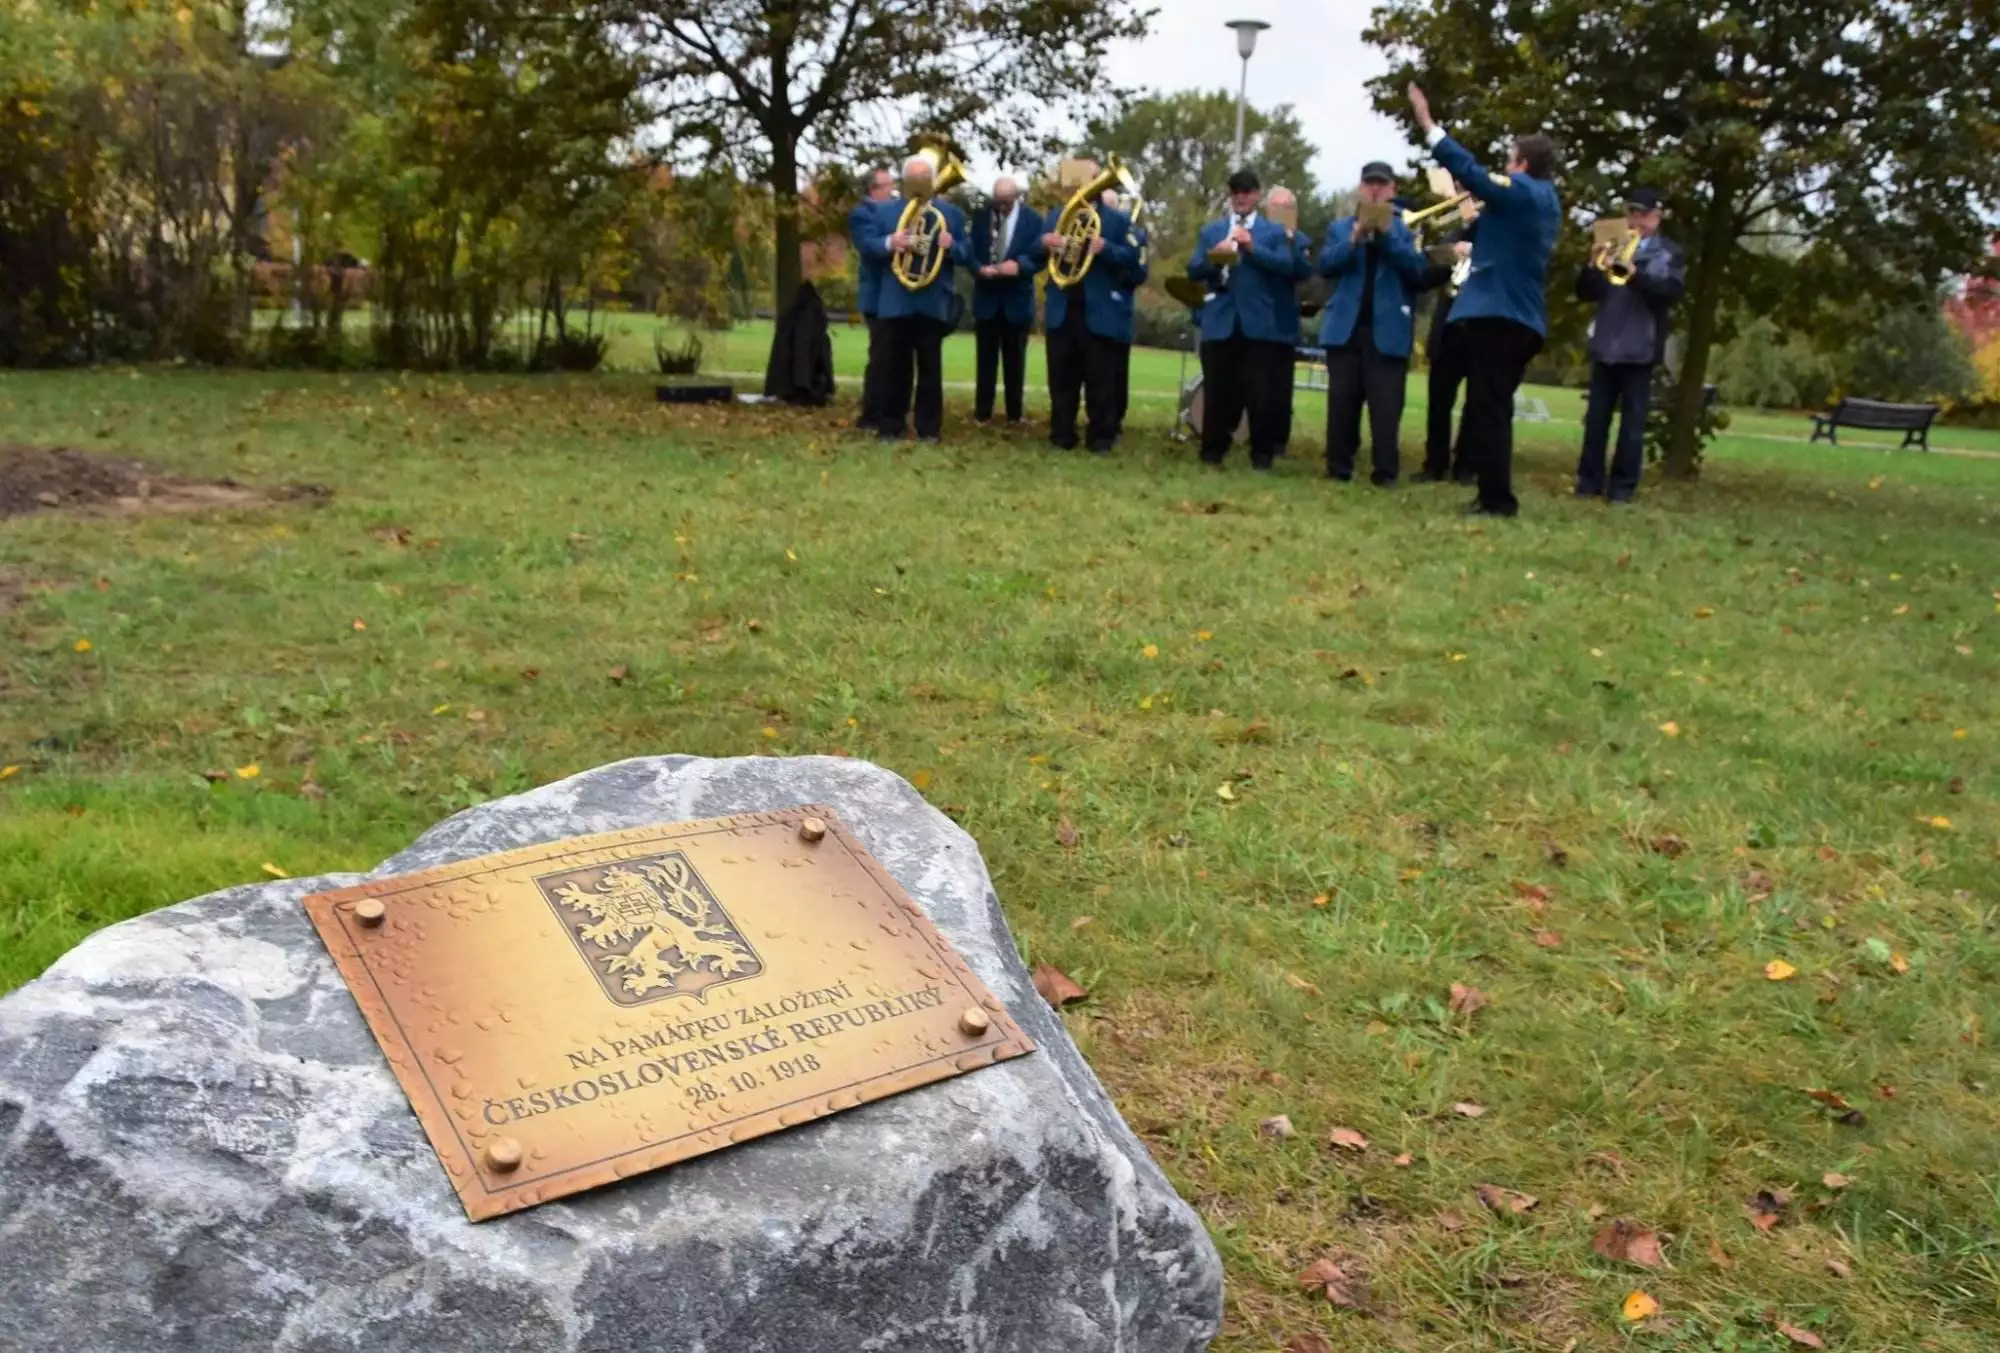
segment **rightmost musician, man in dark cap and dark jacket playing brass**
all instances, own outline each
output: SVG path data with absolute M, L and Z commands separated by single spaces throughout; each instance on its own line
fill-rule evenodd
M 1576 276 L 1576 298 L 1598 306 L 1590 326 L 1590 406 L 1584 412 L 1584 452 L 1576 460 L 1576 496 L 1630 502 L 1646 464 L 1646 410 L 1652 370 L 1666 356 L 1672 308 L 1688 286 L 1688 260 L 1660 234 L 1660 194 L 1640 188 L 1626 198 L 1626 230 L 1638 252 L 1620 264 L 1598 250 Z M 1622 284 L 1614 282 L 1620 278 Z M 1604 476 L 1604 444 L 1618 414 L 1618 452 Z

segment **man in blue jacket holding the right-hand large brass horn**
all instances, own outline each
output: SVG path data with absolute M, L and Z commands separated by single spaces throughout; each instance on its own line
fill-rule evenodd
M 1146 280 L 1146 264 L 1132 234 L 1132 218 L 1100 206 L 1094 260 L 1076 286 L 1048 286 L 1048 444 L 1076 448 L 1076 410 L 1088 412 L 1084 438 L 1094 454 L 1108 456 L 1118 440 L 1118 366 L 1132 350 L 1132 312 L 1126 300 L 1132 278 Z M 1054 230 L 1042 234 L 1034 266 L 1064 246 Z

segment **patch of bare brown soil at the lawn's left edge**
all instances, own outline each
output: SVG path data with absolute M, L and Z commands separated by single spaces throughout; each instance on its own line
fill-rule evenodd
M 70 446 L 0 446 L 0 516 L 64 508 L 142 516 L 246 502 L 316 502 L 330 496 L 332 490 L 318 484 L 252 488 L 232 478 L 182 478 L 138 460 Z

